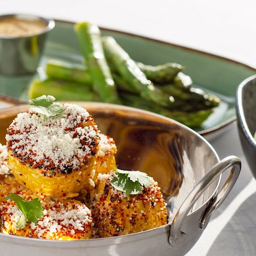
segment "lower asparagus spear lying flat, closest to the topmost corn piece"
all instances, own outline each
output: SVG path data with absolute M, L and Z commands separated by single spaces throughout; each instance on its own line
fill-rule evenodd
M 99 99 L 94 92 L 83 84 L 52 79 L 34 80 L 30 84 L 29 98 L 34 99 L 44 94 L 51 94 L 57 100 L 97 101 Z

